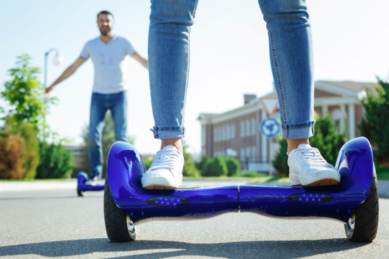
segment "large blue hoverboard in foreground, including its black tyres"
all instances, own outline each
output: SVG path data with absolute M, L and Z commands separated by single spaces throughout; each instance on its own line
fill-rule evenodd
M 251 212 L 271 218 L 330 219 L 344 224 L 349 240 L 368 242 L 378 228 L 378 189 L 370 143 L 348 141 L 335 167 L 336 186 L 211 186 L 146 190 L 146 171 L 138 150 L 115 142 L 108 155 L 104 188 L 107 236 L 114 242 L 136 239 L 139 225 L 149 221 L 201 220 L 227 212 Z

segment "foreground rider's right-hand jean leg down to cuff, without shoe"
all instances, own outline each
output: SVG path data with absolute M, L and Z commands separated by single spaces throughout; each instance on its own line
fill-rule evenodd
M 302 0 L 259 0 L 269 37 L 270 64 L 284 139 L 314 134 L 312 33 Z

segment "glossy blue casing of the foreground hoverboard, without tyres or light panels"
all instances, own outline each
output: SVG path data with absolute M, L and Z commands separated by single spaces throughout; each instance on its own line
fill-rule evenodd
M 285 219 L 333 219 L 346 223 L 353 209 L 365 201 L 373 175 L 373 156 L 366 138 L 347 142 L 341 148 L 335 167 L 341 174 L 336 186 L 267 187 L 212 186 L 182 187 L 176 190 L 145 190 L 141 177 L 143 159 L 136 148 L 115 142 L 108 155 L 107 177 L 116 205 L 125 209 L 135 225 L 155 220 L 195 220 L 227 212 L 253 212 Z M 321 203 L 299 203 L 289 200 L 296 194 L 329 194 L 333 198 Z M 155 196 L 183 197 L 181 206 L 150 204 Z

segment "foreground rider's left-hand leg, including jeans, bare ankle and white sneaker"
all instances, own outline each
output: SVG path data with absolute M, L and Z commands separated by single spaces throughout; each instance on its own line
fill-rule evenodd
M 189 33 L 198 0 L 151 0 L 148 34 L 150 95 L 161 150 L 142 177 L 151 189 L 177 188 L 184 164 L 181 138 L 189 76 Z

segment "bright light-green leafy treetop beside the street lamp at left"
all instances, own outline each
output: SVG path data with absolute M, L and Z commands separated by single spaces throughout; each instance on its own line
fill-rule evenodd
M 27 54 L 17 57 L 16 68 L 9 70 L 13 78 L 4 84 L 5 90 L 1 96 L 11 106 L 7 113 L 15 126 L 28 122 L 35 128 L 39 127 L 43 133 L 44 128 L 47 128 L 45 123 L 47 104 L 53 103 L 56 98 L 45 99 L 45 87 L 36 78 L 40 68 L 31 66 L 30 60 Z M 2 112 L 6 113 L 4 109 Z

